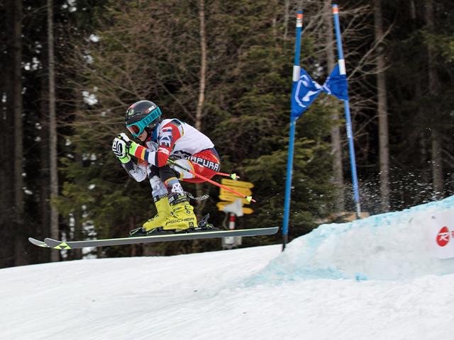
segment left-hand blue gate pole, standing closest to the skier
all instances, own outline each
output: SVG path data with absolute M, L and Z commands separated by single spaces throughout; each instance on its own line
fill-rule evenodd
M 303 28 L 303 11 L 297 11 L 297 38 L 295 40 L 295 59 L 293 65 L 293 84 L 299 81 L 299 55 L 301 50 L 301 30 Z M 289 239 L 290 196 L 292 195 L 293 154 L 295 146 L 295 129 L 297 118 L 290 115 L 289 156 L 287 158 L 287 179 L 285 181 L 284 222 L 282 224 L 282 251 Z

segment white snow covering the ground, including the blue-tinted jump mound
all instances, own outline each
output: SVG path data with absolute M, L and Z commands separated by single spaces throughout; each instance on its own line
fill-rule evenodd
M 453 259 L 421 237 L 423 218 L 453 205 L 321 225 L 284 252 L 4 268 L 0 339 L 454 339 Z

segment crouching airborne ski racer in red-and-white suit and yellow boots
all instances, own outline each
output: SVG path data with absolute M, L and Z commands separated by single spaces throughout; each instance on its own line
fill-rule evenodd
M 131 236 L 157 232 L 181 232 L 197 227 L 194 208 L 179 180 L 200 183 L 203 180 L 175 164 L 211 179 L 220 170 L 219 156 L 209 137 L 181 120 L 161 120 L 160 108 L 151 101 L 133 103 L 126 111 L 126 128 L 143 145 L 125 133 L 114 139 L 112 150 L 123 168 L 135 181 L 150 180 L 157 214 L 131 230 Z M 137 164 L 131 156 L 138 159 Z

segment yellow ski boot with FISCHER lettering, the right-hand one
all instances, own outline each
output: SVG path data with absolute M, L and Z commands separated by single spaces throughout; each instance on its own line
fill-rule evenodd
M 197 217 L 194 215 L 194 207 L 189 204 L 189 199 L 185 194 L 171 195 L 169 203 L 172 212 L 165 220 L 163 230 L 182 232 L 197 227 Z

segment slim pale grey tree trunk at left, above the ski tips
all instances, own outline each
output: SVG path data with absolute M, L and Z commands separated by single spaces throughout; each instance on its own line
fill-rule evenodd
M 53 33 L 53 1 L 48 0 L 48 68 L 49 68 L 49 139 L 50 139 L 50 197 L 58 196 L 57 173 L 57 118 L 55 114 L 55 58 Z M 54 204 L 50 205 L 50 237 L 59 239 L 58 212 Z M 51 261 L 59 261 L 60 254 L 53 251 Z

